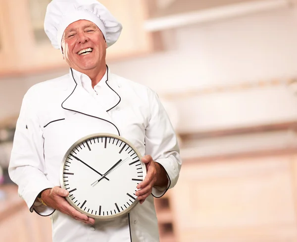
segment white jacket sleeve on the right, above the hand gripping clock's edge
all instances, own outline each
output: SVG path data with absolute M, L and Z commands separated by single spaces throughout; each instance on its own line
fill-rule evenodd
M 161 197 L 168 189 L 175 186 L 182 161 L 176 134 L 169 117 L 157 94 L 151 90 L 149 91 L 150 120 L 146 127 L 146 155 L 150 155 L 167 173 L 167 187 L 152 188 L 152 195 Z

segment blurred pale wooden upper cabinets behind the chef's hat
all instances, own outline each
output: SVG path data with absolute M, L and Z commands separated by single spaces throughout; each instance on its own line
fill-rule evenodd
M 45 7 L 50 0 L 0 0 L 0 76 L 66 68 L 59 50 L 44 33 Z M 116 44 L 107 49 L 107 60 L 150 53 L 152 34 L 145 32 L 145 0 L 100 0 L 123 24 Z M 17 6 L 17 7 L 16 7 Z

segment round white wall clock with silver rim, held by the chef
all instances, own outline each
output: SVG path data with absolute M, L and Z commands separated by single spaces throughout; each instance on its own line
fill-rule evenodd
M 141 154 L 114 134 L 93 134 L 78 140 L 64 156 L 60 183 L 75 209 L 99 220 L 112 220 L 137 203 L 137 185 L 147 171 Z

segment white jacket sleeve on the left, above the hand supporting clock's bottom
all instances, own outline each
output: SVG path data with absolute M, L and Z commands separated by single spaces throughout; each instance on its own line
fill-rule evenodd
M 24 96 L 16 123 L 8 173 L 18 185 L 18 194 L 30 211 L 47 216 L 54 210 L 36 199 L 38 194 L 54 185 L 47 179 L 44 160 L 43 131 L 37 115 L 38 101 L 30 89 Z

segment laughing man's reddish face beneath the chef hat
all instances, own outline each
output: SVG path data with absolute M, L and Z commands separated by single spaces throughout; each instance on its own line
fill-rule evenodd
M 69 66 L 84 73 L 105 65 L 107 44 L 97 25 L 88 20 L 71 23 L 62 37 L 64 59 Z

